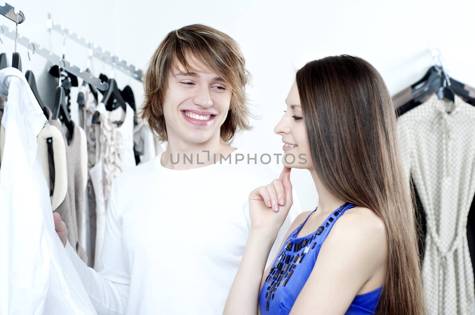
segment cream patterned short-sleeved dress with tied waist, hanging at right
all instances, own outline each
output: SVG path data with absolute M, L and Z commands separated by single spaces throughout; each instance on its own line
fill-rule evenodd
M 434 94 L 399 117 L 398 136 L 406 176 L 426 214 L 422 276 L 429 314 L 474 314 L 466 225 L 475 194 L 475 107 Z

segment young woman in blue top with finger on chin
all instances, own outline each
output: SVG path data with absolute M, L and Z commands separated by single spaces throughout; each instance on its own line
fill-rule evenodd
M 275 128 L 285 167 L 249 195 L 251 231 L 224 314 L 425 314 L 408 179 L 380 74 L 357 57 L 315 60 L 297 72 L 286 103 Z M 308 161 L 290 164 L 291 154 Z M 295 219 L 264 271 L 292 205 L 291 167 L 310 171 L 318 206 Z

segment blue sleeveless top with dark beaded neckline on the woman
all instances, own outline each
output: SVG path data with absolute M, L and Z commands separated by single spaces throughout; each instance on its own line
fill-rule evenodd
M 315 209 L 289 235 L 260 292 L 261 315 L 288 315 L 290 313 L 297 296 L 314 269 L 318 252 L 333 224 L 346 210 L 354 206 L 350 203 L 343 204 L 331 213 L 315 232 L 304 237 L 296 237 Z M 374 314 L 381 291 L 382 286 L 371 292 L 355 296 L 345 315 Z

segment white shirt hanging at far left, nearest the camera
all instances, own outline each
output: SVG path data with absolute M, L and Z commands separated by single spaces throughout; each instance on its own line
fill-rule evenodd
M 46 117 L 19 70 L 0 70 L 0 83 L 0 94 L 8 94 L 0 168 L 0 314 L 96 314 L 55 232 L 37 147 Z

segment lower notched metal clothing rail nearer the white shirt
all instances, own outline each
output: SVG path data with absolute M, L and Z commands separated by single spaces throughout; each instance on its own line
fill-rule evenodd
M 49 50 L 39 46 L 37 43 L 30 41 L 27 37 L 20 37 L 19 35 L 15 36 L 15 31 L 10 31 L 10 29 L 5 25 L 0 26 L 0 32 L 1 34 L 5 35 L 6 37 L 10 37 L 13 40 L 17 38 L 17 42 L 21 46 L 27 47 L 27 49 L 31 50 L 34 54 L 38 54 L 39 56 L 44 57 L 54 65 L 57 65 L 61 69 L 64 69 L 67 72 L 83 79 L 85 82 L 94 85 L 99 90 L 107 90 L 108 84 L 106 82 L 101 82 L 100 79 L 96 78 L 95 76 L 92 76 L 89 72 L 81 71 L 79 67 L 69 63 L 65 59 L 60 58 L 58 55 L 51 53 Z

